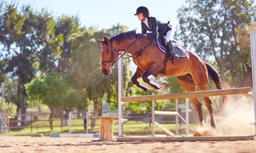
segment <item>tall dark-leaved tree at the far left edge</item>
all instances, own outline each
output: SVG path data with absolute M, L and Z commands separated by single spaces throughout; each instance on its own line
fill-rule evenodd
M 35 12 L 30 5 L 23 5 L 19 12 L 16 2 L 6 4 L 1 16 L 1 57 L 6 64 L 1 68 L 9 79 L 17 82 L 17 109 L 21 108 L 22 114 L 26 114 L 24 84 L 30 82 L 42 66 L 40 60 L 47 53 L 43 48 L 52 38 L 54 20 L 47 11 Z

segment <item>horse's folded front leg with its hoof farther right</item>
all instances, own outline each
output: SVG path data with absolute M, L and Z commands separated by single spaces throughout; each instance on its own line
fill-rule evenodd
M 168 88 L 168 84 L 167 83 L 157 83 L 154 81 L 151 81 L 150 79 L 148 79 L 148 77 L 150 75 L 154 75 L 157 74 L 157 72 L 159 72 L 160 70 L 162 70 L 163 65 L 159 65 L 157 63 L 152 63 L 151 67 L 148 68 L 147 71 L 144 72 L 144 74 L 142 75 L 142 79 L 145 83 L 148 83 L 148 85 L 152 86 L 154 89 L 165 89 Z

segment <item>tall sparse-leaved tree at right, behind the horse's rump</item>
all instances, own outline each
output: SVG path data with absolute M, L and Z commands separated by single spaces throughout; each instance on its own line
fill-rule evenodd
M 246 28 L 255 21 L 255 3 L 252 0 L 194 0 L 187 3 L 188 6 L 177 11 L 180 21 L 178 38 L 185 48 L 193 49 L 203 59 L 215 60 L 222 81 L 225 81 L 232 75 L 231 70 L 239 71 L 233 63 L 244 62 L 241 57 L 234 59 L 234 54 L 243 52 L 235 45 L 239 37 L 236 29 Z M 243 57 L 250 58 L 248 55 Z

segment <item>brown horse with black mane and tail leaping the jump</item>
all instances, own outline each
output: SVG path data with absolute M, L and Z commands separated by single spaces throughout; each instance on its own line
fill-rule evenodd
M 195 92 L 198 89 L 207 90 L 209 77 L 214 81 L 217 89 L 223 89 L 218 72 L 208 63 L 200 59 L 197 54 L 186 50 L 187 57 L 179 58 L 177 64 L 173 65 L 168 59 L 164 64 L 165 53 L 163 53 L 157 45 L 155 38 L 142 37 L 138 38 L 136 31 L 123 32 L 111 38 L 104 37 L 104 40 L 96 40 L 101 43 L 101 70 L 102 73 L 108 75 L 111 73 L 111 67 L 119 58 L 122 58 L 121 51 L 129 53 L 133 58 L 134 64 L 137 65 L 137 70 L 131 82 L 139 88 L 148 90 L 150 88 L 161 89 L 166 87 L 166 83 L 159 84 L 153 82 L 148 77 L 150 75 L 159 77 L 177 77 L 180 86 L 186 92 Z M 150 86 L 137 81 L 142 77 L 143 81 Z M 202 104 L 198 98 L 190 99 L 197 109 L 200 124 L 204 125 L 202 116 Z M 226 96 L 223 96 L 222 105 L 226 103 Z M 211 117 L 211 126 L 216 128 L 214 115 L 212 112 L 212 102 L 209 97 L 204 97 L 205 105 L 209 110 Z

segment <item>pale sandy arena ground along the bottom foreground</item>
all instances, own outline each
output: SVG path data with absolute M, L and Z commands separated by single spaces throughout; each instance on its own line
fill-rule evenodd
M 255 152 L 256 140 L 207 142 L 102 142 L 98 138 L 0 136 L 0 152 Z

